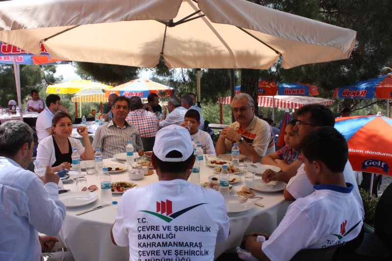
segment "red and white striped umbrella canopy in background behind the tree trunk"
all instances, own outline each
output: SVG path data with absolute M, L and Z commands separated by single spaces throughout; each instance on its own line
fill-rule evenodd
M 231 104 L 231 97 L 220 97 L 218 103 Z M 334 100 L 308 97 L 308 96 L 258 96 L 257 103 L 259 107 L 271 107 L 278 109 L 297 109 L 307 104 L 322 104 L 330 106 L 334 103 Z

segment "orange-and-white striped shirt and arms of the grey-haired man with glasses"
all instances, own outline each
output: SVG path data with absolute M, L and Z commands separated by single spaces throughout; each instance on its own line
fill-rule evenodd
M 273 140 L 272 130 L 270 124 L 267 121 L 253 116 L 252 121 L 246 127 L 245 130 L 241 127 L 241 124 L 237 121 L 230 125 L 230 128 L 234 129 L 238 134 L 244 138 L 244 142 L 251 145 L 254 151 L 261 157 L 267 154 L 275 152 L 275 143 Z M 225 145 L 227 151 L 231 151 L 233 143 L 231 140 L 226 139 Z

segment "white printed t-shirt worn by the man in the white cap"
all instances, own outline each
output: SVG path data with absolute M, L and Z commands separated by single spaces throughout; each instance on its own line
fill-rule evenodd
M 188 181 L 159 181 L 127 190 L 117 210 L 113 237 L 129 245 L 129 260 L 213 260 L 226 241 L 229 219 L 218 191 Z

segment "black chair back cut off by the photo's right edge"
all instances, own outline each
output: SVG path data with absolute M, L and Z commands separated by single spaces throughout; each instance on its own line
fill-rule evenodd
M 374 233 L 392 249 L 392 183 L 382 193 L 374 218 Z

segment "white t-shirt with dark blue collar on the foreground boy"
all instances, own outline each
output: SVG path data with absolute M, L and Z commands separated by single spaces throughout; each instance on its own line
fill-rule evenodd
M 290 260 L 301 249 L 331 247 L 359 235 L 363 221 L 353 185 L 315 185 L 315 189 L 289 206 L 279 226 L 263 242 L 261 249 L 271 261 Z

